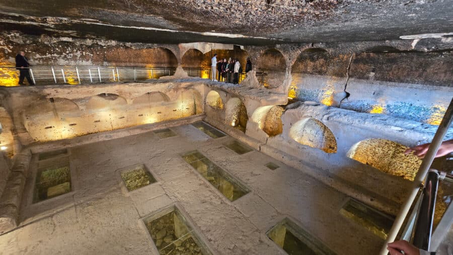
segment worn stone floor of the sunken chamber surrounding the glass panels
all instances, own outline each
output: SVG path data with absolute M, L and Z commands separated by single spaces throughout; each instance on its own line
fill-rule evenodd
M 383 244 L 338 213 L 345 195 L 261 152 L 236 154 L 223 145 L 230 136 L 212 139 L 191 125 L 172 130 L 178 136 L 147 132 L 70 148 L 73 191 L 30 205 L 29 178 L 21 227 L 0 236 L 0 254 L 155 254 L 140 219 L 174 203 L 214 254 L 284 254 L 266 231 L 285 217 L 338 254 L 375 254 Z M 179 155 L 194 149 L 251 192 L 226 199 Z M 271 161 L 280 167 L 267 168 Z M 128 194 L 117 169 L 139 163 L 158 183 Z

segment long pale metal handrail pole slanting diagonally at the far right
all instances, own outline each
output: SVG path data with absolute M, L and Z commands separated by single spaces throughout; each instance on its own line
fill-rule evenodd
M 448 128 L 451 125 L 451 121 L 453 120 L 453 99 L 450 101 L 450 105 L 448 106 L 448 109 L 445 112 L 445 115 L 443 116 L 442 121 L 440 122 L 439 127 L 437 128 L 436 134 L 434 135 L 434 138 L 432 139 L 432 142 L 428 148 L 428 151 L 426 152 L 425 157 L 423 158 L 423 161 L 420 165 L 420 168 L 418 169 L 418 173 L 415 176 L 414 181 L 412 182 L 412 190 L 410 191 L 410 194 L 406 200 L 406 202 L 402 205 L 401 210 L 396 217 L 392 228 L 389 231 L 389 235 L 387 236 L 387 240 L 384 243 L 381 251 L 379 254 L 381 255 L 387 255 L 389 252 L 387 250 L 387 243 L 393 242 L 398 234 L 398 231 L 400 230 L 401 226 L 403 225 L 404 218 L 406 218 L 406 215 L 408 214 L 412 203 L 414 202 L 415 197 L 417 196 L 417 192 L 419 188 L 422 186 L 422 182 L 424 181 L 426 177 L 426 173 L 428 172 L 429 167 L 432 164 L 432 161 L 434 159 L 435 154 L 437 153 L 437 150 L 439 149 L 440 144 L 442 143 L 443 137 L 445 136 L 446 132 L 448 131 Z

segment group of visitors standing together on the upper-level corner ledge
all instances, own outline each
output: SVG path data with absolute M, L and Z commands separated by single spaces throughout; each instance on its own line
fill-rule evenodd
M 246 72 L 252 70 L 252 61 L 247 58 Z M 217 61 L 217 54 L 211 58 L 211 80 L 224 81 L 234 84 L 239 83 L 239 74 L 242 73 L 242 66 L 238 58 L 226 58 Z M 217 78 L 216 78 L 217 77 Z

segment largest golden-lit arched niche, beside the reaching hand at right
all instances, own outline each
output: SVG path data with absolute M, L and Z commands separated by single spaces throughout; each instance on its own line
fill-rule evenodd
M 414 154 L 405 155 L 406 146 L 386 139 L 366 139 L 354 144 L 347 156 L 381 172 L 413 181 L 421 164 Z

